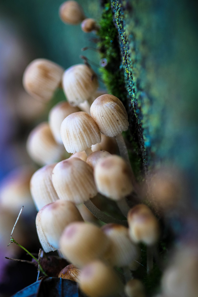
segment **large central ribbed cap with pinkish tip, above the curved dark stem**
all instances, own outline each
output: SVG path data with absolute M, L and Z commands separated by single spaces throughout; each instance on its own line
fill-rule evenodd
M 53 186 L 62 200 L 82 203 L 96 195 L 93 169 L 79 158 L 59 162 L 52 173 Z

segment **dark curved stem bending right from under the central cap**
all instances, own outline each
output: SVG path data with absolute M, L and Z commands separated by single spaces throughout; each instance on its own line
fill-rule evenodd
M 126 220 L 118 220 L 113 217 L 110 217 L 107 214 L 104 214 L 104 212 L 99 210 L 91 200 L 85 201 L 84 205 L 94 215 L 94 217 L 96 217 L 97 219 L 99 219 L 100 221 L 102 221 L 104 223 L 107 223 L 107 224 L 114 223 L 114 224 L 120 224 L 123 226 L 128 226 Z

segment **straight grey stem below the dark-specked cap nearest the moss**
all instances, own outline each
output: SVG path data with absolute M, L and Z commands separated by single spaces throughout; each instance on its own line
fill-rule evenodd
M 140 187 L 136 182 L 136 179 L 135 179 L 132 167 L 131 167 L 131 163 L 129 160 L 129 154 L 128 154 L 128 151 L 126 148 L 126 143 L 124 141 L 124 138 L 123 138 L 122 134 L 118 134 L 115 136 L 115 139 L 117 141 L 121 157 L 123 159 L 125 159 L 126 163 L 129 165 L 129 168 L 131 170 L 131 179 L 132 179 L 132 184 L 133 184 L 134 190 L 138 195 L 140 195 Z

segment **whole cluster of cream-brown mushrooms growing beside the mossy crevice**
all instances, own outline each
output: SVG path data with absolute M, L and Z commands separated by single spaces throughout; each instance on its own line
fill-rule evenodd
M 85 32 L 98 28 L 75 1 L 61 5 L 60 17 L 66 23 L 82 22 Z M 128 297 L 145 296 L 132 271 L 141 261 L 139 243 L 148 246 L 152 262 L 160 228 L 141 197 L 133 208 L 127 204 L 126 197 L 138 192 L 121 135 L 129 127 L 123 103 L 112 94 L 96 96 L 97 75 L 88 64 L 64 71 L 37 59 L 26 68 L 23 83 L 36 99 L 49 101 L 61 86 L 67 99 L 50 110 L 48 122 L 34 128 L 27 140 L 29 155 L 43 166 L 30 181 L 43 250 L 58 250 L 71 263 L 59 276 L 78 282 L 89 297 L 124 291 Z M 106 211 L 108 205 L 113 215 Z

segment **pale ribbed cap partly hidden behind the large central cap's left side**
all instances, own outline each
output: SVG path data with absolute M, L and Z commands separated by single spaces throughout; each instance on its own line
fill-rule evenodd
M 55 165 L 56 163 L 46 165 L 31 177 L 30 191 L 37 210 L 59 199 L 52 184 L 52 171 Z

